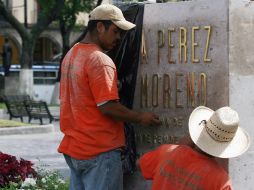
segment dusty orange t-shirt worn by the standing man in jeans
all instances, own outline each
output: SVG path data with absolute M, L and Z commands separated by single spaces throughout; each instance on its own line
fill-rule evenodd
M 89 159 L 125 145 L 123 123 L 103 115 L 98 103 L 118 100 L 113 61 L 95 44 L 76 44 L 61 66 L 58 151 Z

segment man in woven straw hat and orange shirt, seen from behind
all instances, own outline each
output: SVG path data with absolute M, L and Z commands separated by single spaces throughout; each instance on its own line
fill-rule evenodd
M 230 107 L 196 108 L 189 118 L 190 145 L 165 144 L 144 154 L 137 166 L 153 190 L 231 190 L 228 173 L 216 159 L 243 154 L 249 135 Z

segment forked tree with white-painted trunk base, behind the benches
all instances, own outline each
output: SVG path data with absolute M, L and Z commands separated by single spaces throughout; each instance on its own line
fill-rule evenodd
M 23 71 L 32 68 L 35 43 L 43 30 L 59 17 L 62 7 L 64 6 L 64 1 L 65 0 L 37 0 L 40 7 L 37 23 L 31 28 L 26 28 L 23 23 L 12 15 L 11 10 L 5 6 L 3 1 L 0 0 L 0 15 L 16 29 L 22 39 L 20 65 L 23 70 L 21 69 L 20 71 L 19 93 L 32 95 L 33 82 L 31 79 L 33 79 L 33 77 L 26 76 L 32 75 L 32 72 Z

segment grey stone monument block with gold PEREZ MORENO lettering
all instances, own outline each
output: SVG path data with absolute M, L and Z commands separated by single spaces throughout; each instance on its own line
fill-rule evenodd
M 145 5 L 134 109 L 160 116 L 159 128 L 136 126 L 140 155 L 188 133 L 191 111 L 231 106 L 253 134 L 254 2 L 200 0 Z M 251 135 L 253 136 L 253 135 Z M 253 146 L 229 162 L 235 189 L 252 188 Z M 125 189 L 147 189 L 136 173 Z

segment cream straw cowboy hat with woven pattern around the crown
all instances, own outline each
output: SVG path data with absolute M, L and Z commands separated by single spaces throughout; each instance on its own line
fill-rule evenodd
M 230 107 L 216 111 L 197 107 L 189 118 L 189 133 L 202 151 L 215 157 L 236 157 L 250 146 L 249 135 L 239 127 L 238 114 Z

